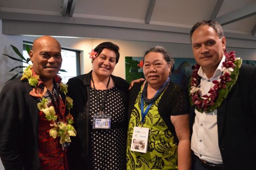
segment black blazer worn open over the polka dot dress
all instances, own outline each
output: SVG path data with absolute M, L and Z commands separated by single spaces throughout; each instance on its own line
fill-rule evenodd
M 92 71 L 91 71 L 92 72 Z M 89 164 L 89 108 L 90 108 L 90 85 L 91 72 L 70 78 L 68 81 L 68 94 L 73 99 L 73 108 L 70 113 L 74 117 L 74 128 L 77 131 L 76 137 L 71 137 L 72 140 L 69 150 L 69 168 L 70 170 L 91 170 Z M 115 85 L 119 90 L 122 101 L 125 107 L 125 113 L 128 108 L 128 88 L 129 83 L 124 79 L 111 75 L 115 81 Z M 127 119 L 127 118 L 126 118 Z M 127 124 L 118 124 L 119 127 L 126 127 Z M 111 125 L 111 128 L 115 126 Z

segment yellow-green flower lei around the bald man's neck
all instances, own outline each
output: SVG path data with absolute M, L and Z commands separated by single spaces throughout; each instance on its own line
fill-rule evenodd
M 54 139 L 56 139 L 56 137 L 60 137 L 60 144 L 64 144 L 65 142 L 71 142 L 70 136 L 76 136 L 76 130 L 72 126 L 72 124 L 74 123 L 73 116 L 69 113 L 66 118 L 63 119 L 63 122 L 57 121 L 58 116 L 56 115 L 54 107 L 50 106 L 50 102 L 47 98 L 44 97 L 47 89 L 43 81 L 41 81 L 41 79 L 39 78 L 39 75 L 37 75 L 33 71 L 32 65 L 29 65 L 24 70 L 22 78 L 20 80 L 23 80 L 25 78 L 28 79 L 28 83 L 33 87 L 33 90 L 30 91 L 29 94 L 38 98 L 39 103 L 37 103 L 37 107 L 40 111 L 43 111 L 43 113 L 45 113 L 46 120 L 50 122 L 50 126 L 52 127 L 52 129 L 50 129 L 49 131 L 50 137 L 53 137 Z M 72 109 L 73 107 L 73 100 L 66 95 L 68 86 L 61 83 L 61 77 L 59 75 L 54 78 L 54 81 L 56 83 L 59 83 L 59 91 L 65 95 L 65 106 L 70 112 L 70 109 Z

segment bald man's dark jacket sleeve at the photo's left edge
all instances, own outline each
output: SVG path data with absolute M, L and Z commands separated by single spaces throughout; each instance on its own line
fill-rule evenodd
M 13 85 L 8 83 L 0 94 L 0 157 L 6 170 L 22 169 L 23 161 L 19 155 L 19 134 L 20 129 L 19 112 L 22 112 L 23 106 L 20 106 L 17 98 L 20 93 Z

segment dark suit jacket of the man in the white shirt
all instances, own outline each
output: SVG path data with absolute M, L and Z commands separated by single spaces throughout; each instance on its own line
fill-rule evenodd
M 195 107 L 190 111 L 190 130 Z M 217 108 L 218 140 L 225 170 L 256 170 L 256 67 L 243 64 L 232 91 Z

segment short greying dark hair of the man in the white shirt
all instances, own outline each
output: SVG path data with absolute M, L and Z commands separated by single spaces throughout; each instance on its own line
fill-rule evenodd
M 211 28 L 213 28 L 216 33 L 218 34 L 219 38 L 224 37 L 224 32 L 223 29 L 221 27 L 221 24 L 219 24 L 219 22 L 215 21 L 215 20 L 201 20 L 200 22 L 197 22 L 190 30 L 189 36 L 190 36 L 190 41 L 191 41 L 191 37 L 192 34 L 194 33 L 194 31 L 200 27 L 200 26 L 204 26 L 204 25 L 208 25 Z

